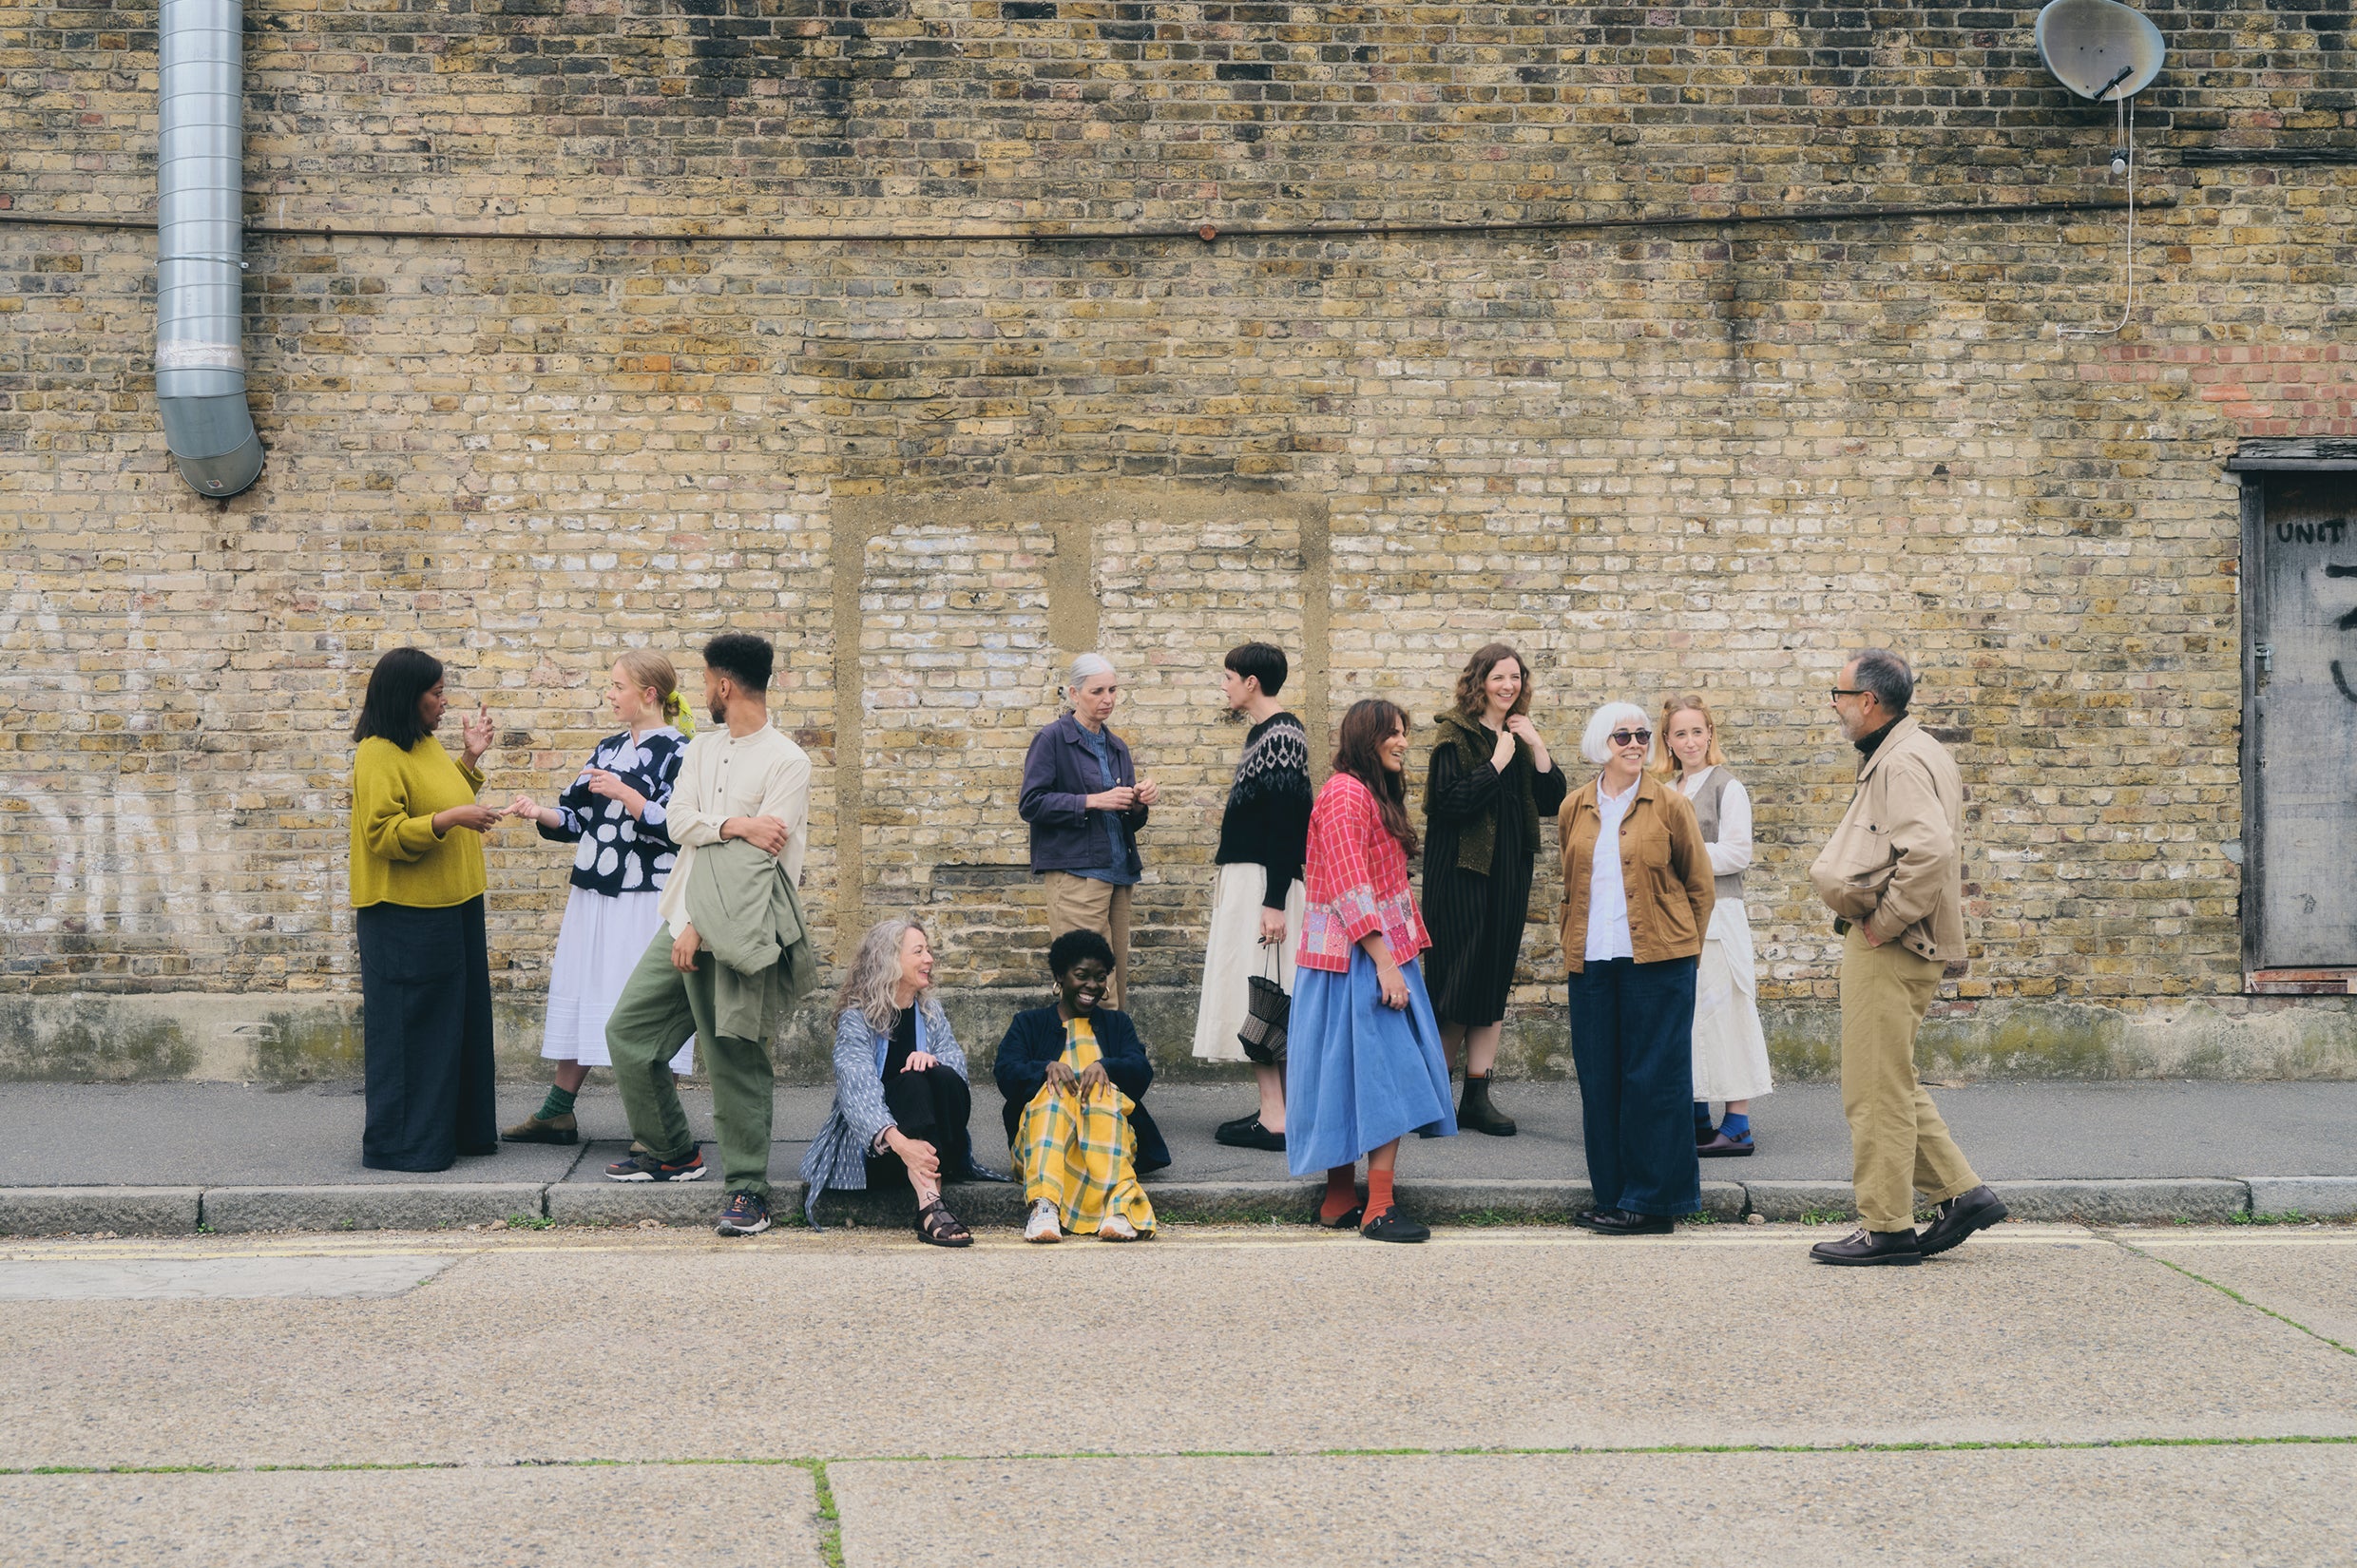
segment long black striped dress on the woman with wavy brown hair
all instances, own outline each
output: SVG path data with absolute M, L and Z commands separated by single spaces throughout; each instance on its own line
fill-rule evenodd
M 1433 950 L 1424 955 L 1424 986 L 1440 1023 L 1483 1028 L 1506 1016 L 1513 967 L 1523 960 L 1539 844 L 1523 842 L 1523 813 L 1499 811 L 1499 802 L 1520 792 L 1516 778 L 1525 771 L 1530 762 L 1523 752 L 1499 773 L 1487 757 L 1466 769 L 1447 740 L 1433 747 L 1433 766 L 1424 778 L 1424 924 L 1433 934 Z M 1541 823 L 1563 811 L 1570 792 L 1563 766 L 1530 773 L 1530 792 Z M 1457 865 L 1457 844 L 1480 816 L 1497 821 L 1487 877 Z

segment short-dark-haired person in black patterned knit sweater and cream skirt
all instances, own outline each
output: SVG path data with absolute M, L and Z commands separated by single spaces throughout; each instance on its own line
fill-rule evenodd
M 1252 976 L 1294 990 L 1294 943 L 1301 941 L 1301 858 L 1310 835 L 1310 743 L 1301 719 L 1277 707 L 1285 653 L 1266 641 L 1230 648 L 1221 672 L 1228 712 L 1242 714 L 1244 759 L 1235 764 L 1228 809 L 1219 818 L 1219 882 L 1211 894 L 1211 943 L 1202 960 L 1195 1007 L 1197 1061 L 1247 1061 L 1237 1030 Z M 1254 1061 L 1261 1106 L 1211 1134 L 1230 1148 L 1285 1148 L 1285 1063 Z

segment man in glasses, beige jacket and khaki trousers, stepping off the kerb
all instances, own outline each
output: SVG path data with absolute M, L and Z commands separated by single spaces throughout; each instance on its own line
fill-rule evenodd
M 1808 879 L 1841 934 L 1841 1111 L 1860 1231 L 1820 1264 L 1921 1264 L 2006 1217 L 1914 1070 L 1914 1037 L 1963 960 L 1963 776 L 1907 717 L 1914 672 L 1886 648 L 1841 670 L 1834 717 L 1860 750 L 1857 795 Z M 1919 1238 L 1914 1193 L 1940 1205 Z

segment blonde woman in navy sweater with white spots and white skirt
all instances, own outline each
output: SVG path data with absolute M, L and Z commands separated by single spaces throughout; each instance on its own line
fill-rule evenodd
M 613 663 L 606 705 L 622 731 L 589 752 L 573 785 L 542 806 L 519 795 L 507 809 L 540 825 L 540 837 L 577 844 L 573 896 L 549 960 L 549 1014 L 540 1054 L 556 1063 L 556 1082 L 540 1111 L 500 1137 L 509 1144 L 573 1144 L 580 1125 L 573 1099 L 589 1068 L 613 1066 L 606 1054 L 606 1014 L 622 995 L 639 955 L 655 936 L 662 879 L 679 849 L 665 832 L 665 804 L 688 747 L 686 698 L 679 674 L 660 653 L 634 648 Z M 695 1068 L 695 1042 L 672 1056 L 674 1073 Z

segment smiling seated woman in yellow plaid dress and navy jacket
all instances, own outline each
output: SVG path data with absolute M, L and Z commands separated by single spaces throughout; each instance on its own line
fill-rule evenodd
M 1103 1007 L 1113 946 L 1065 931 L 1047 950 L 1058 1000 L 1016 1014 L 992 1075 L 1006 1096 L 1006 1141 L 1030 1200 L 1023 1240 L 1153 1236 L 1155 1205 L 1138 1172 L 1171 1162 L 1138 1103 L 1155 1080 L 1129 1014 Z

